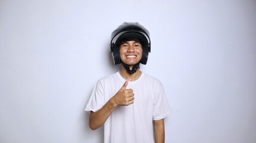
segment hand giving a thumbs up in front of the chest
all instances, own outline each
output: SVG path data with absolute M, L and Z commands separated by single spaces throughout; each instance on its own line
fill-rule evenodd
M 113 100 L 117 105 L 130 105 L 134 102 L 134 94 L 132 89 L 126 89 L 128 85 L 128 80 L 124 82 L 124 85 L 121 89 L 115 94 Z

